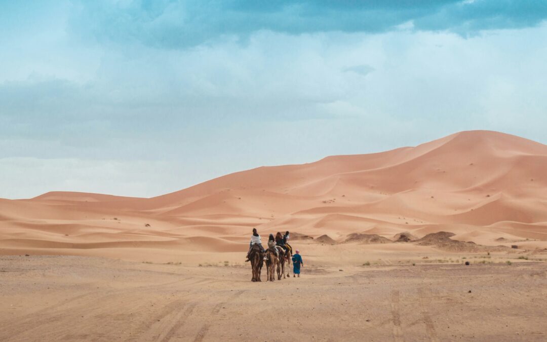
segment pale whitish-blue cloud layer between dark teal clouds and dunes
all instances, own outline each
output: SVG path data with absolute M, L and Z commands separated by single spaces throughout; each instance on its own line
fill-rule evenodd
M 0 197 L 159 195 L 467 129 L 547 142 L 545 25 L 468 39 L 412 30 L 247 38 L 182 50 L 63 34 L 38 48 L 9 43 Z

